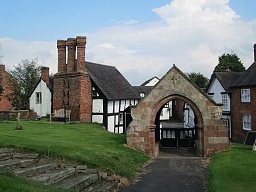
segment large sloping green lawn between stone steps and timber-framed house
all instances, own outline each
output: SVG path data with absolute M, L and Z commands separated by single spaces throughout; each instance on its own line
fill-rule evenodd
M 148 156 L 124 147 L 126 136 L 113 134 L 96 123 L 49 124 L 45 120 L 0 123 L 0 146 L 22 147 L 27 151 L 87 164 L 132 180 Z M 1 190 L 0 190 L 1 191 Z

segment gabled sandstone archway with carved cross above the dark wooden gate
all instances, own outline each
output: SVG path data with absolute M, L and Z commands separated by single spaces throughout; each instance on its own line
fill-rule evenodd
M 140 102 L 131 107 L 133 121 L 127 128 L 127 144 L 149 155 L 157 155 L 155 119 L 169 100 L 187 102 L 198 118 L 198 155 L 211 155 L 228 148 L 228 130 L 221 121 L 221 107 L 173 66 Z

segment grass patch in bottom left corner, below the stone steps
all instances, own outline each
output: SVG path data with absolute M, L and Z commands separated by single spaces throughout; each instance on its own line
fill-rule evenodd
M 0 172 L 0 191 L 5 192 L 75 192 L 72 189 L 58 189 L 55 187 L 45 186 L 41 183 L 32 182 L 25 178 L 14 176 L 11 172 L 3 171 Z

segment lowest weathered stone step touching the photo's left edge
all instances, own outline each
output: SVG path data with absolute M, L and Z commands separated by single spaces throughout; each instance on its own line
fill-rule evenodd
M 9 159 L 6 161 L 0 161 L 0 170 L 3 169 L 16 169 L 16 168 L 23 168 L 32 164 L 35 160 L 34 159 Z

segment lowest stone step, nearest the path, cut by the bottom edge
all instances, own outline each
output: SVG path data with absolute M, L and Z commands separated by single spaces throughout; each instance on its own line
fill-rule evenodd
M 100 180 L 100 182 L 95 183 L 93 185 L 90 185 L 86 189 L 83 189 L 83 192 L 110 192 L 114 191 L 117 188 L 117 182 L 112 182 L 112 181 L 104 181 Z

